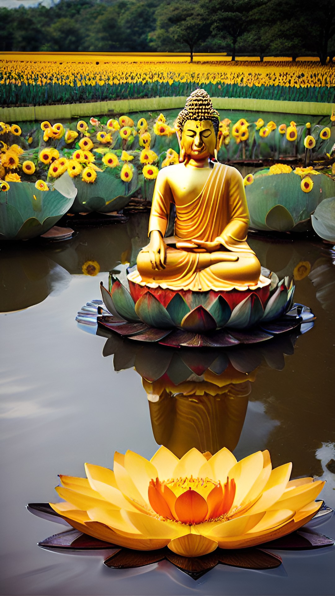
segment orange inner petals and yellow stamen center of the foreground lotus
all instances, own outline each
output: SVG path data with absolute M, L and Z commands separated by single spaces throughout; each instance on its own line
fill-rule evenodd
M 151 479 L 148 498 L 153 510 L 165 519 L 194 525 L 227 519 L 235 497 L 234 479 L 222 486 L 210 478 Z

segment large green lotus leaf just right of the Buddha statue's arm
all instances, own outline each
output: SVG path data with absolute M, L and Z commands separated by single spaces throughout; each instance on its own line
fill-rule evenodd
M 311 213 L 318 204 L 335 194 L 335 182 L 328 176 L 313 175 L 312 181 L 314 182 L 312 190 L 304 193 L 300 187 L 301 178 L 294 172 L 272 176 L 262 176 L 259 172 L 253 184 L 246 186 L 250 225 L 256 229 L 278 229 L 274 227 L 275 212 L 269 212 L 274 207 L 282 206 L 292 219 L 284 210 L 277 209 L 280 231 L 289 231 L 293 227 L 292 221 L 294 225 L 306 221 L 307 226 Z M 271 228 L 267 225 L 268 222 L 271 222 Z M 301 227 L 299 229 L 302 231 Z

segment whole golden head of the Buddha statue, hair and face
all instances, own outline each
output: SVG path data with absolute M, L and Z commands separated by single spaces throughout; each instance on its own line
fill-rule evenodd
M 206 91 L 193 91 L 176 120 L 181 162 L 190 159 L 199 162 L 214 157 L 219 122 L 219 113 L 213 109 Z

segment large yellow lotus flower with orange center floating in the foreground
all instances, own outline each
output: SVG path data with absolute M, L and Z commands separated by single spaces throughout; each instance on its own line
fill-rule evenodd
M 116 452 L 114 470 L 85 464 L 86 479 L 60 476 L 65 502 L 50 504 L 73 527 L 136 550 L 168 546 L 184 557 L 285 536 L 308 522 L 324 482 L 289 480 L 291 464 L 272 470 L 268 451 L 237 462 L 191 449 L 180 460 L 160 447 L 150 461 Z

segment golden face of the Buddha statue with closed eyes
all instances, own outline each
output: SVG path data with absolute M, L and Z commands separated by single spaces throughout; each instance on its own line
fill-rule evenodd
M 181 146 L 188 159 L 196 162 L 214 155 L 216 136 L 212 120 L 187 120 L 182 129 Z

